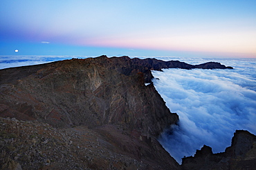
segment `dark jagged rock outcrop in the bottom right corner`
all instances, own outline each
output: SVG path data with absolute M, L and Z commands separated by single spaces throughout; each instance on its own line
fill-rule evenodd
M 237 130 L 232 144 L 225 152 L 212 153 L 212 148 L 203 146 L 194 157 L 182 159 L 182 169 L 255 169 L 256 136 L 248 131 Z

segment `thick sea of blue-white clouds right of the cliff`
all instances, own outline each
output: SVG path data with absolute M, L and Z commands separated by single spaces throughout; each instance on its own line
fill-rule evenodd
M 256 134 L 255 63 L 243 66 L 241 61 L 228 62 L 240 67 L 152 72 L 158 93 L 170 111 L 179 115 L 178 125 L 166 129 L 159 138 L 179 163 L 203 145 L 212 147 L 214 153 L 225 151 L 236 129 Z

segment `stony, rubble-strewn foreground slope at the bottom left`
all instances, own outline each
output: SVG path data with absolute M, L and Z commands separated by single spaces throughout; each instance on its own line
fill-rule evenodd
M 155 138 L 113 125 L 55 128 L 0 118 L 0 169 L 179 169 Z

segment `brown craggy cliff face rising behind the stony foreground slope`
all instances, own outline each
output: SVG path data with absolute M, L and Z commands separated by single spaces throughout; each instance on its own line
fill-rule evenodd
M 145 86 L 143 72 L 128 57 L 106 56 L 1 70 L 0 116 L 55 127 L 113 124 L 158 136 L 178 116 L 154 85 Z

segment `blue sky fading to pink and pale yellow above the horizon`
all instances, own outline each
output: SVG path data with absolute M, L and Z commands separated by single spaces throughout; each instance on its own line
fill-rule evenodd
M 1 0 L 0 55 L 256 58 L 255 9 L 255 0 Z

